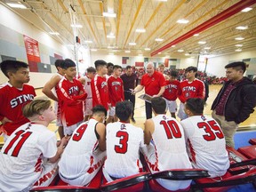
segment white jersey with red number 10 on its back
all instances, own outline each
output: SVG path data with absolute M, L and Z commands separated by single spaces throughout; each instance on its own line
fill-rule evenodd
M 165 115 L 154 116 L 152 121 L 155 124 L 155 131 L 152 134 L 156 148 L 155 171 L 192 168 L 180 123 Z

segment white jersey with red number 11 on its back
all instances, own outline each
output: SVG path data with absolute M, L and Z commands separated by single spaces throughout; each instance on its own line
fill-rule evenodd
M 41 124 L 23 124 L 0 153 L 0 191 L 28 191 L 44 172 L 43 158 L 57 152 L 57 139 Z

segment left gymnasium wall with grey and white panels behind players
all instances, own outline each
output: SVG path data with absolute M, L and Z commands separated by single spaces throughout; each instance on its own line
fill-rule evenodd
M 43 87 L 52 74 L 56 73 L 54 61 L 57 58 L 72 58 L 72 52 L 52 36 L 36 28 L 27 20 L 23 20 L 2 4 L 0 4 L 0 12 L 4 15 L 0 17 L 0 61 L 10 59 L 29 63 L 30 82 L 28 84 L 35 88 Z M 28 40 L 36 42 L 39 60 L 38 58 L 28 60 L 24 35 L 28 36 Z M 6 81 L 7 78 L 0 72 L 0 84 Z

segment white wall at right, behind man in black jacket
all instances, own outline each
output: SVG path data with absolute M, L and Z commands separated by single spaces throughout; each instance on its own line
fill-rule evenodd
M 243 51 L 234 54 L 222 55 L 208 59 L 206 73 L 213 76 L 226 76 L 225 66 L 228 65 L 230 60 L 243 60 L 248 58 L 256 58 L 256 51 Z M 256 71 L 254 71 L 256 74 Z

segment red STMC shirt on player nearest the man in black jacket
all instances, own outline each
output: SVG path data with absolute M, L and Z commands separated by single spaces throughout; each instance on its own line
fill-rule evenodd
M 194 79 L 192 82 L 188 82 L 188 79 L 180 82 L 179 99 L 182 103 L 185 103 L 188 98 L 200 98 L 204 100 L 205 88 L 204 82 L 199 79 Z

